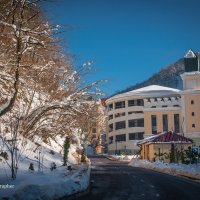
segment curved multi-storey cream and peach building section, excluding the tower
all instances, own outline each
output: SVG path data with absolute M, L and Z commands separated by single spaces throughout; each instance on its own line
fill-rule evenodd
M 139 151 L 137 142 L 143 139 L 144 135 L 147 137 L 152 133 L 168 130 L 169 114 L 174 118 L 174 122 L 170 122 L 172 127 L 169 128 L 180 132 L 179 92 L 177 89 L 151 85 L 109 98 L 106 101 L 108 152 L 137 153 Z M 152 115 L 152 111 L 156 112 L 155 115 Z M 159 111 L 162 112 L 164 120 L 162 125 L 156 121 L 156 117 L 159 120 L 157 116 Z M 150 120 L 149 112 L 151 112 Z M 159 125 L 162 126 L 162 130 Z

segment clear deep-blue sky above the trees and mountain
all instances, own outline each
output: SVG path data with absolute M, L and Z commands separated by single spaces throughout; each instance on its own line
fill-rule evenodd
M 93 61 L 107 95 L 142 82 L 192 48 L 200 51 L 199 0 L 58 0 L 47 7 L 75 65 Z

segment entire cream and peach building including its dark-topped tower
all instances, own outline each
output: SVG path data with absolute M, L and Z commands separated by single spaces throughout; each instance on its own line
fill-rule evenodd
M 199 59 L 190 50 L 184 60 L 183 90 L 150 85 L 107 99 L 109 153 L 135 154 L 138 141 L 163 131 L 180 133 L 200 145 Z

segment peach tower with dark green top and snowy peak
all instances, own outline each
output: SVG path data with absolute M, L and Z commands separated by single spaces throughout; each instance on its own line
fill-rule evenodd
M 183 132 L 200 145 L 200 61 L 197 53 L 191 49 L 184 56 L 185 72 L 183 80 L 182 116 Z

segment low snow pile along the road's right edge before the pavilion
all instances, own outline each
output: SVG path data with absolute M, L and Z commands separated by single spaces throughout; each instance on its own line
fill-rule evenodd
M 129 165 L 133 167 L 152 169 L 170 175 L 180 175 L 200 179 L 200 163 L 188 165 L 181 163 L 163 163 L 161 161 L 151 163 L 147 160 L 133 158 Z

